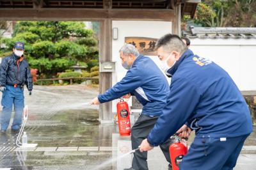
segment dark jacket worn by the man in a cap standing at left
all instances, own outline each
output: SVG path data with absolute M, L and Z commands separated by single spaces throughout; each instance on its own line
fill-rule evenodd
M 26 84 L 28 90 L 33 89 L 33 82 L 28 61 L 23 59 L 19 61 L 19 68 L 17 66 L 18 56 L 12 54 L 2 59 L 0 66 L 0 85 L 24 85 Z

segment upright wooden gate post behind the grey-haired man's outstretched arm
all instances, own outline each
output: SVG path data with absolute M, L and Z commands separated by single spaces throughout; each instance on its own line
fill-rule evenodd
M 99 60 L 112 61 L 112 20 L 104 19 L 100 21 L 99 36 Z M 100 73 L 100 93 L 104 93 L 112 86 L 112 73 Z M 100 123 L 113 123 L 112 102 L 100 104 Z

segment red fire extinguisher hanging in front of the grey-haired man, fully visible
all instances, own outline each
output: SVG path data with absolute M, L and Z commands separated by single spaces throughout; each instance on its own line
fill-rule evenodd
M 120 135 L 131 135 L 130 112 L 127 102 L 124 99 L 116 104 L 117 118 Z

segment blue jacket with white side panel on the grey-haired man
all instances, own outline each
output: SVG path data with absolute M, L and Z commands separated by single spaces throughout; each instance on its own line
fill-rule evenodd
M 127 93 L 135 95 L 143 105 L 141 114 L 159 116 L 166 104 L 169 84 L 163 72 L 152 59 L 140 55 L 136 58 L 125 77 L 98 96 L 99 102 L 109 102 Z

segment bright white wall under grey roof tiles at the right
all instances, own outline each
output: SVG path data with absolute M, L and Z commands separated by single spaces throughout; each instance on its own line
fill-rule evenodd
M 256 39 L 191 39 L 191 50 L 220 65 L 241 91 L 256 90 Z

